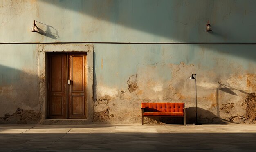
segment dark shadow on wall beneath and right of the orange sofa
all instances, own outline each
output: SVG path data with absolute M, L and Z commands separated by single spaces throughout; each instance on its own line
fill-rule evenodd
M 203 108 L 197 108 L 198 113 L 198 122 L 207 124 L 207 123 L 234 123 L 232 121 L 222 119 L 212 112 L 205 110 Z M 168 118 L 168 117 L 150 117 L 150 119 L 144 118 L 146 121 L 144 123 L 150 123 L 150 121 L 155 120 L 157 123 L 166 123 L 166 124 L 184 124 L 183 118 Z M 152 122 L 151 122 L 152 123 Z M 193 124 L 195 123 L 195 107 L 189 107 L 186 110 L 186 123 Z

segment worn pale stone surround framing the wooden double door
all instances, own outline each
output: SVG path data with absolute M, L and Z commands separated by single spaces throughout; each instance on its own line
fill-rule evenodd
M 38 44 L 38 86 L 41 105 L 41 124 L 90 124 L 93 120 L 93 45 L 92 44 Z M 87 119 L 46 119 L 46 52 L 87 53 Z

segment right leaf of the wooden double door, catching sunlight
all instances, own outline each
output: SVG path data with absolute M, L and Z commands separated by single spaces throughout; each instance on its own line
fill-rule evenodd
M 68 55 L 69 118 L 86 118 L 86 54 Z

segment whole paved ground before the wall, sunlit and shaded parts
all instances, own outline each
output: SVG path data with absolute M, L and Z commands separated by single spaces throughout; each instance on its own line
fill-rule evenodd
M 0 125 L 0 152 L 255 152 L 256 124 Z

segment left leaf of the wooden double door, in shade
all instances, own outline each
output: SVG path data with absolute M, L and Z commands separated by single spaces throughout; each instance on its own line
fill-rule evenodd
M 50 119 L 67 117 L 67 55 L 47 54 L 47 116 Z

